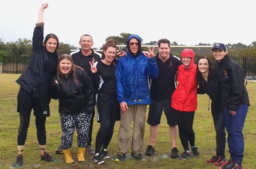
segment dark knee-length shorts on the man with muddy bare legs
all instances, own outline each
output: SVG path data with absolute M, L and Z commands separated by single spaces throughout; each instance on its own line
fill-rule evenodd
M 151 126 L 160 124 L 163 111 L 167 118 L 167 124 L 170 126 L 176 126 L 177 123 L 171 108 L 171 99 L 162 101 L 152 100 L 152 104 L 149 105 L 147 123 Z

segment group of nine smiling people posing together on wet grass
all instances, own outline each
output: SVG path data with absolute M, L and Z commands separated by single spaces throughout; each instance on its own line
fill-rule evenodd
M 216 155 L 205 162 L 220 166 L 221 169 L 242 168 L 242 129 L 249 98 L 244 85 L 244 71 L 229 58 L 224 44 L 217 43 L 212 48 L 217 61 L 215 68 L 207 57 L 199 58 L 195 65 L 192 49 L 184 49 L 181 60 L 171 55 L 170 41 L 167 39 L 158 41 L 157 55 L 153 52 L 154 48 L 142 52 L 141 38 L 136 34 L 128 36 L 126 52 L 120 50 L 117 53 L 114 41 L 108 40 L 100 56 L 91 49 L 92 37 L 84 34 L 79 40 L 79 51 L 58 56 L 59 39 L 55 34 L 48 34 L 42 44 L 43 12 L 47 7 L 47 3 L 40 7 L 33 34 L 33 54 L 27 69 L 16 81 L 20 85 L 17 98 L 20 127 L 15 167 L 23 165 L 23 149 L 32 109 L 36 116 L 41 160 L 56 162 L 46 151 L 45 122 L 46 117 L 50 116 L 51 98 L 59 99 L 62 127 L 61 145 L 56 152 L 64 153 L 68 164 L 74 163 L 71 147 L 75 128 L 78 134 L 78 162 L 85 162 L 86 152 L 93 154 L 93 161 L 97 164 L 110 158 L 107 147 L 115 121 L 119 120 L 118 153 L 114 161 L 126 158 L 132 120 L 131 154 L 137 160 L 145 160 L 142 151 L 147 105 L 150 105 L 147 120 L 150 125 L 150 144 L 146 155 L 155 153 L 158 125 L 164 111 L 172 142 L 171 158 L 198 157 L 200 153 L 195 144 L 193 119 L 197 109 L 197 94 L 207 93 L 212 100 Z M 95 105 L 100 128 L 94 152 L 91 135 Z M 225 157 L 225 128 L 228 133 L 229 161 Z M 184 148 L 181 155 L 176 143 L 178 129 Z

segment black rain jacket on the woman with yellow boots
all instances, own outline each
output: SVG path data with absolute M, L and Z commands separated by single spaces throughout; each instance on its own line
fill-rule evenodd
M 57 76 L 51 79 L 51 97 L 59 99 L 59 113 L 78 114 L 82 112 L 94 112 L 93 87 L 91 79 L 81 69 L 76 70 L 76 80 L 72 71 L 68 77 L 61 77 L 58 84 L 55 83 Z

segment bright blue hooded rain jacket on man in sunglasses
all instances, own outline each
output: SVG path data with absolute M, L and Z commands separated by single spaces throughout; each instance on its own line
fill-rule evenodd
M 134 56 L 129 49 L 129 41 L 136 38 L 139 42 L 139 52 Z M 127 38 L 127 54 L 118 60 L 116 66 L 116 90 L 119 103 L 128 105 L 151 104 L 148 76 L 155 79 L 158 68 L 155 57 L 148 58 L 141 51 L 141 39 L 136 34 Z

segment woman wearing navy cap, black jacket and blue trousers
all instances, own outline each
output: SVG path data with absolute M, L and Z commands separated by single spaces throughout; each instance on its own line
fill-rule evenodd
M 213 56 L 217 61 L 215 69 L 221 85 L 223 113 L 226 131 L 228 133 L 229 161 L 220 169 L 243 168 L 244 156 L 243 127 L 248 112 L 249 97 L 244 86 L 244 70 L 230 59 L 224 44 L 217 43 L 212 48 Z

